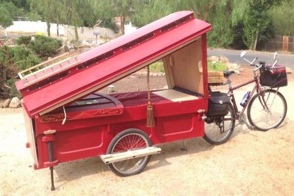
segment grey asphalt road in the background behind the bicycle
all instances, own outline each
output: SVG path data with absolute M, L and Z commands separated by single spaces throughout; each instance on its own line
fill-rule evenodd
M 248 65 L 248 63 L 240 57 L 242 50 L 232 49 L 207 49 L 208 56 L 226 56 L 231 63 L 237 63 L 242 65 Z M 266 63 L 273 63 L 274 52 L 261 52 L 261 51 L 246 51 L 245 58 L 252 61 L 255 57 L 258 57 L 256 62 L 265 61 Z M 294 54 L 279 54 L 278 53 L 278 65 L 284 65 L 294 70 Z

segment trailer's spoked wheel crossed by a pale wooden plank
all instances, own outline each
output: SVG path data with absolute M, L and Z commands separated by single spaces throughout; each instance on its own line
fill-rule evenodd
M 151 146 L 151 141 L 145 132 L 139 129 L 126 129 L 113 138 L 107 148 L 107 154 L 126 152 L 128 150 L 142 149 Z M 136 157 L 108 164 L 108 167 L 119 176 L 135 175 L 145 169 L 150 158 L 151 155 Z

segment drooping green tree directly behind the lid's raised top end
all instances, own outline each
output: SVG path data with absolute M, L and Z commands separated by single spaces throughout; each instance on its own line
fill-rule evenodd
M 180 10 L 193 10 L 195 17 L 211 23 L 208 45 L 228 47 L 233 41 L 232 28 L 245 13 L 248 0 L 137 0 L 134 1 L 132 23 L 146 25 Z M 240 6 L 242 4 L 242 6 Z

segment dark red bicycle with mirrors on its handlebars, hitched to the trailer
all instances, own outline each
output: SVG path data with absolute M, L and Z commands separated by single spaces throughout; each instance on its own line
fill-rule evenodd
M 244 58 L 244 55 L 245 51 L 243 51 L 240 56 Z M 206 124 L 203 137 L 205 141 L 212 145 L 223 144 L 230 138 L 235 126 L 239 124 L 246 124 L 247 127 L 251 130 L 257 129 L 261 131 L 267 131 L 278 127 L 284 121 L 287 114 L 287 102 L 284 96 L 279 92 L 279 88 L 287 85 L 287 73 L 285 67 L 276 66 L 276 57 L 277 53 L 274 55 L 274 64 L 272 66 L 266 66 L 266 63 L 262 61 L 258 64 L 254 64 L 254 62 L 257 60 L 257 57 L 251 62 L 244 58 L 247 62 L 250 63 L 250 66 L 256 67 L 253 70 L 254 78 L 235 87 L 232 87 L 231 80 L 229 78 L 231 74 L 235 72 L 223 72 L 227 81 L 221 85 L 229 86 L 229 91 L 227 93 L 229 98 L 227 115 L 207 115 L 205 118 Z M 283 75 L 269 75 L 276 70 L 278 70 L 278 73 L 283 73 Z M 259 71 L 260 75 L 258 75 Z M 250 91 L 250 96 L 245 102 L 243 109 L 239 111 L 234 96 L 234 90 L 250 83 L 255 83 L 255 86 Z M 277 89 L 275 90 L 273 88 Z M 210 92 L 213 92 L 211 86 L 209 86 L 209 90 Z M 247 117 L 250 124 L 248 124 L 246 121 L 246 108 Z M 235 125 L 236 120 L 239 122 L 237 125 Z

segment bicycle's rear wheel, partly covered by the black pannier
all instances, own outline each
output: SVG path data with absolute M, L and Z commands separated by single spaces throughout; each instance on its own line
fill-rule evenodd
M 235 120 L 232 120 L 232 118 L 235 118 L 235 111 L 232 104 L 230 103 L 229 113 L 226 116 L 207 118 L 205 121 L 206 123 L 203 139 L 212 145 L 220 145 L 225 143 L 231 137 L 235 128 Z

